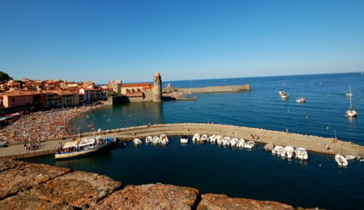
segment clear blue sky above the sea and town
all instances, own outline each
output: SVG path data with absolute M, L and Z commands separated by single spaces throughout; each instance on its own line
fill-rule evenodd
M 364 70 L 364 1 L 0 0 L 0 71 L 107 83 Z

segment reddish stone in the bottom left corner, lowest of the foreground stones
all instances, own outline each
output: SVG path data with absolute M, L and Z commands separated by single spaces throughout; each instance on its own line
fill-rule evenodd
M 76 209 L 64 204 L 55 204 L 36 197 L 15 195 L 0 200 L 0 209 Z

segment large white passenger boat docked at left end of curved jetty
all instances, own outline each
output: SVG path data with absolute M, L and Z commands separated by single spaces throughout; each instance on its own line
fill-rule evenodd
M 81 158 L 100 151 L 100 149 L 110 145 L 112 140 L 112 138 L 101 139 L 100 137 L 93 137 L 66 142 L 62 148 L 56 151 L 55 158 L 56 160 Z

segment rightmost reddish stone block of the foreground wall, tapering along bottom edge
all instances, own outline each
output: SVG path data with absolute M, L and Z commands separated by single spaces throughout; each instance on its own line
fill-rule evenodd
M 202 200 L 197 209 L 290 209 L 294 208 L 287 204 L 271 201 L 259 201 L 245 198 L 231 198 L 227 195 L 208 193 L 202 195 Z

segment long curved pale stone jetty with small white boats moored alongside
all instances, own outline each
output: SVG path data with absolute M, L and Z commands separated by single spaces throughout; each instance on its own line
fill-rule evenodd
M 352 144 L 348 141 L 337 140 L 333 143 L 330 138 L 316 137 L 311 135 L 294 134 L 287 132 L 279 132 L 272 130 L 264 130 L 261 128 L 252 127 L 239 127 L 234 125 L 219 125 L 219 124 L 205 124 L 205 123 L 176 123 L 176 124 L 159 124 L 159 125 L 142 125 L 138 127 L 126 127 L 115 130 L 106 130 L 102 137 L 113 137 L 125 140 L 132 140 L 134 138 L 142 139 L 148 136 L 159 136 L 160 134 L 167 134 L 169 136 L 178 136 L 188 134 L 190 137 L 193 134 L 207 134 L 207 135 L 221 135 L 228 137 L 236 137 L 238 139 L 249 140 L 250 134 L 253 134 L 258 139 L 252 139 L 261 144 L 278 144 L 281 146 L 293 146 L 294 148 L 306 148 L 308 151 L 325 153 L 330 155 L 343 154 L 343 155 L 364 155 L 364 146 Z M 84 136 L 97 135 L 96 132 L 86 133 Z M 0 159 L 22 159 L 31 158 L 41 155 L 51 155 L 56 151 L 59 141 L 63 144 L 65 141 L 70 141 L 72 136 L 54 141 L 46 141 L 42 143 L 41 148 L 36 151 L 25 151 L 24 146 L 15 145 L 6 148 L 0 148 Z M 327 150 L 326 145 L 330 147 Z

